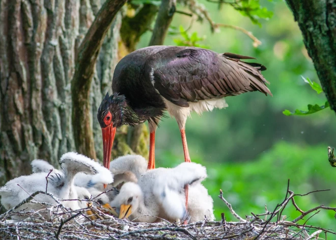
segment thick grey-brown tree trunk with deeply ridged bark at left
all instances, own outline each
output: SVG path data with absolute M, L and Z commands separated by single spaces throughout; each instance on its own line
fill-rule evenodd
M 57 166 L 63 153 L 76 151 L 71 79 L 78 47 L 104 2 L 0 0 L 0 185 L 30 174 L 35 158 Z M 99 159 L 102 139 L 96 115 L 125 55 L 121 23 L 119 13 L 101 46 L 90 87 L 89 118 Z M 146 136 L 145 128 L 137 153 L 147 154 Z M 114 155 L 133 153 L 127 127 L 118 130 L 115 142 Z

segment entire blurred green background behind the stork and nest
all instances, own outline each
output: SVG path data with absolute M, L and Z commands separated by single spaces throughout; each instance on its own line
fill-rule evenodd
M 217 197 L 219 189 L 241 216 L 273 210 L 286 195 L 287 180 L 297 194 L 330 189 L 295 200 L 303 210 L 320 204 L 336 207 L 336 169 L 327 160 L 327 146 L 336 146 L 336 119 L 330 109 L 309 116 L 285 116 L 289 109 L 306 110 L 307 104 L 323 105 L 324 94 L 316 94 L 302 81 L 301 75 L 318 82 L 312 60 L 307 56 L 301 32 L 283 1 L 261 1 L 272 11 L 269 20 L 261 19 L 262 27 L 228 5 L 218 6 L 199 1 L 209 10 L 216 23 L 241 26 L 262 41 L 255 48 L 253 41 L 241 32 L 221 28 L 212 34 L 209 23 L 195 22 L 189 31 L 206 36 L 201 44 L 217 52 L 234 52 L 256 57 L 267 67 L 263 72 L 271 83 L 273 97 L 258 92 L 228 97 L 225 110 L 206 112 L 202 117 L 192 114 L 187 120 L 186 136 L 191 161 L 208 169 L 204 181 L 214 200 L 215 217 L 225 212 L 227 219 L 236 221 L 226 205 Z M 178 9 L 183 7 L 178 6 Z M 187 10 L 186 10 L 187 11 Z M 186 29 L 190 18 L 175 14 L 172 26 Z M 177 30 L 178 31 L 178 30 Z M 147 46 L 151 33 L 141 39 L 137 48 Z M 165 45 L 176 45 L 179 35 L 169 35 Z M 173 167 L 183 161 L 180 132 L 175 120 L 164 119 L 156 134 L 157 167 Z M 299 216 L 294 207 L 284 212 L 289 220 Z M 308 217 L 304 218 L 304 223 Z M 321 210 L 307 223 L 336 230 L 333 211 Z M 324 237 L 324 236 L 322 236 Z M 328 236 L 328 239 L 336 239 Z

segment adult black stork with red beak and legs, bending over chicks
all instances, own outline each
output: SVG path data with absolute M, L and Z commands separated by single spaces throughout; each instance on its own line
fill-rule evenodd
M 103 135 L 104 166 L 109 168 L 116 128 L 148 121 L 148 169 L 155 168 L 155 130 L 165 110 L 179 125 L 184 160 L 190 162 L 185 123 L 191 111 L 201 114 L 221 109 L 228 106 L 225 97 L 245 92 L 271 95 L 261 74 L 266 67 L 241 59 L 254 58 L 180 46 L 150 46 L 124 57 L 114 72 L 113 94 L 106 94 L 97 113 Z

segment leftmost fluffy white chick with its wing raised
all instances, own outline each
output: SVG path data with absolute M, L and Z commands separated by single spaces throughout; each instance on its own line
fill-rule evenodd
M 41 163 L 35 161 L 36 163 Z M 48 177 L 48 192 L 53 194 L 58 199 L 77 199 L 78 193 L 75 185 L 73 184 L 73 178 L 77 172 L 86 172 L 89 174 L 96 174 L 103 169 L 98 163 L 94 162 L 90 158 L 77 154 L 74 152 L 68 152 L 63 154 L 60 160 L 62 170 L 53 170 Z M 47 172 L 33 173 L 27 176 L 20 176 L 7 182 L 5 186 L 0 188 L 0 195 L 2 196 L 2 204 L 6 209 L 12 208 L 29 197 L 29 194 L 33 194 L 36 191 L 45 191 L 46 179 L 50 166 L 39 165 L 46 167 Z M 51 166 L 52 167 L 52 166 Z M 34 167 L 33 167 L 34 168 Z M 42 167 L 41 167 L 42 168 Z M 42 168 L 43 169 L 43 168 Z M 45 169 L 45 168 L 44 168 Z M 52 167 L 52 169 L 54 169 Z M 39 171 L 34 168 L 35 171 Z M 111 183 L 113 181 L 113 175 L 107 170 L 106 175 L 103 178 L 97 177 L 96 181 L 103 180 L 103 183 Z M 18 184 L 21 186 L 18 186 Z M 24 189 L 24 190 L 22 190 Z M 47 195 L 38 194 L 34 197 L 39 202 L 47 202 L 55 204 L 55 201 Z M 64 206 L 72 209 L 79 209 L 81 205 L 78 201 L 61 201 Z M 48 206 L 47 206 L 48 207 Z M 20 209 L 35 209 L 41 208 L 39 203 L 27 203 L 22 205 Z

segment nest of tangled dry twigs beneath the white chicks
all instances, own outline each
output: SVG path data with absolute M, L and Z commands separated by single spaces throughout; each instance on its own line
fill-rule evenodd
M 319 191 L 313 191 L 319 192 Z M 310 192 L 310 193 L 313 193 Z M 52 196 L 50 193 L 43 193 Z M 307 194 L 310 194 L 307 193 Z M 227 222 L 225 214 L 221 221 L 204 219 L 197 223 L 182 225 L 169 223 L 162 219 L 160 223 L 135 223 L 120 220 L 103 212 L 100 208 L 88 204 L 88 208 L 71 210 L 58 200 L 56 205 L 41 203 L 41 209 L 16 211 L 27 202 L 34 202 L 34 196 L 27 198 L 18 206 L 0 216 L 1 239 L 317 239 L 321 233 L 336 234 L 329 229 L 307 226 L 297 222 L 303 217 L 317 213 L 320 209 L 336 211 L 336 208 L 317 206 L 307 211 L 301 210 L 295 203 L 294 194 L 287 189 L 285 200 L 277 204 L 273 211 L 265 207 L 263 214 L 253 214 L 241 218 L 233 210 L 220 191 L 219 198 L 228 206 L 231 214 L 238 222 Z M 54 197 L 53 197 L 54 198 Z M 36 203 L 36 202 L 35 202 Z M 282 216 L 283 210 L 291 203 L 301 215 L 289 221 Z M 50 206 L 46 206 L 50 205 Z M 315 215 L 313 214 L 313 216 Z M 24 221 L 12 220 L 22 218 Z M 321 236 L 324 236 L 322 234 Z

